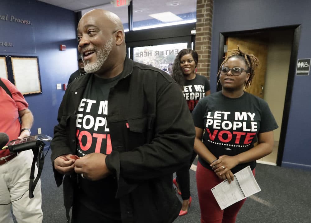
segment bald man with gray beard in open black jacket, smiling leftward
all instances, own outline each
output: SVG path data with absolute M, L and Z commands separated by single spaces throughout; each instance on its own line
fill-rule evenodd
M 78 24 L 89 75 L 68 86 L 51 143 L 69 222 L 170 223 L 181 203 L 172 174 L 190 159 L 195 130 L 178 84 L 126 55 L 117 15 L 95 9 Z

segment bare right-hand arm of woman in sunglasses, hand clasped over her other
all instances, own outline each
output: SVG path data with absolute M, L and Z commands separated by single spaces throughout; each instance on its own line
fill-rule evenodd
M 235 156 L 220 156 L 218 160 L 212 163 L 216 173 L 222 175 L 231 170 L 236 165 L 248 163 L 261 159 L 272 152 L 273 149 L 273 131 L 262 132 L 258 134 L 258 145 L 248 151 L 242 152 Z M 222 167 L 224 166 L 225 169 Z

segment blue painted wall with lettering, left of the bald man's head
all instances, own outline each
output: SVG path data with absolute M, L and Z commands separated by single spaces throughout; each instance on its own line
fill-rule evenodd
M 58 107 L 65 92 L 56 90 L 56 84 L 67 83 L 70 74 L 78 68 L 75 13 L 35 0 L 1 0 L 0 5 L 0 15 L 8 14 L 31 20 L 32 25 L 28 28 L 33 28 L 35 51 L 28 49 L 33 47 L 29 30 L 26 30 L 26 38 L 30 39 L 25 39 L 25 33 L 19 29 L 25 29 L 26 25 L 18 26 L 9 21 L 0 21 L 1 39 L 10 39 L 10 42 L 15 43 L 14 50 L 6 49 L 5 52 L 0 48 L 0 55 L 39 57 L 42 94 L 26 95 L 25 98 L 35 117 L 33 134 L 37 134 L 37 128 L 41 128 L 43 134 L 53 136 Z M 30 47 L 25 50 L 18 41 L 25 41 Z M 65 44 L 67 50 L 60 51 L 60 44 Z

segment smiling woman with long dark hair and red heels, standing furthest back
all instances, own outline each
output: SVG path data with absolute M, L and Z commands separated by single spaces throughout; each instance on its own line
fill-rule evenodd
M 182 88 L 183 95 L 187 101 L 190 112 L 197 105 L 198 101 L 211 93 L 210 83 L 206 77 L 196 74 L 198 63 L 198 54 L 192 49 L 182 49 L 177 54 L 173 64 L 172 77 Z M 188 213 L 188 206 L 191 204 L 190 196 L 190 175 L 189 168 L 197 154 L 193 151 L 193 155 L 189 162 L 176 172 L 176 178 L 173 183 L 177 187 L 177 193 L 183 199 L 183 206 L 179 216 Z

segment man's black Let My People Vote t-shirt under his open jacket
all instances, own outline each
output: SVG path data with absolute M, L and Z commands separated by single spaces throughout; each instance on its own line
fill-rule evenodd
M 119 75 L 103 79 L 92 74 L 77 110 L 77 155 L 110 154 L 112 151 L 107 125 L 108 96 Z M 117 181 L 112 176 L 90 181 L 79 178 L 78 196 L 84 206 L 111 219 L 120 220 L 119 200 L 115 199 Z

